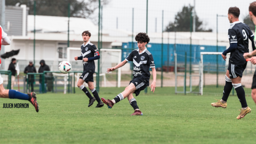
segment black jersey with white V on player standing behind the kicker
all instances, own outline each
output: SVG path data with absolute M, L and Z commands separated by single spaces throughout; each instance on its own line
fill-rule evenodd
M 92 44 L 90 41 L 87 42 L 85 45 L 82 44 L 81 46 L 81 56 L 83 56 L 83 58 L 92 58 L 94 57 L 94 55 L 100 55 L 98 52 L 97 47 Z M 92 61 L 83 61 L 83 65 L 84 65 L 84 71 L 86 71 L 87 73 L 95 73 L 95 63 L 94 60 Z

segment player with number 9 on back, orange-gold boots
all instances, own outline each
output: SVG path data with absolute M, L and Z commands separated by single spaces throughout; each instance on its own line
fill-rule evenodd
M 225 77 L 226 85 L 224 86 L 222 99 L 218 100 L 218 102 L 211 103 L 213 107 L 227 108 L 228 96 L 232 87 L 234 87 L 237 97 L 242 105 L 241 113 L 236 117 L 237 119 L 241 119 L 251 112 L 251 109 L 247 106 L 241 79 L 243 71 L 247 65 L 246 60 L 243 58 L 243 54 L 249 52 L 249 39 L 253 42 L 254 38 L 249 26 L 239 21 L 239 14 L 240 10 L 238 7 L 229 7 L 228 20 L 231 25 L 228 29 L 228 37 L 230 46 L 221 54 L 222 58 L 226 61 L 226 55 L 230 52 L 228 70 Z M 252 43 L 252 45 L 252 47 L 255 47 L 254 43 Z

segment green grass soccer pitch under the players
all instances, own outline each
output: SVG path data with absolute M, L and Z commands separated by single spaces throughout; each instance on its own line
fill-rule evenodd
M 101 88 L 100 97 L 113 99 L 124 88 Z M 137 102 L 143 116 L 130 116 L 125 99 L 112 109 L 87 107 L 85 94 L 38 94 L 39 113 L 29 109 L 0 111 L 0 143 L 255 143 L 255 103 L 241 120 L 238 98 L 230 96 L 227 109 L 210 104 L 219 96 L 143 92 Z M 2 103 L 28 103 L 1 99 Z

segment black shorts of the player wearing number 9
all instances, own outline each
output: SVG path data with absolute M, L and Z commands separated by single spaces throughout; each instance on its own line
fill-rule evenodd
M 228 63 L 229 77 L 230 78 L 236 78 L 238 76 L 242 77 L 246 66 L 247 66 L 247 62 L 245 62 L 244 65 L 234 65 L 229 62 Z

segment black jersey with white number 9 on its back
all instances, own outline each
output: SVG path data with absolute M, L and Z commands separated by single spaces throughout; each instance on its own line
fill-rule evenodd
M 228 29 L 229 43 L 237 43 L 237 49 L 230 53 L 229 62 L 243 65 L 246 60 L 243 54 L 249 52 L 249 37 L 254 36 L 249 26 L 241 21 L 231 23 Z

